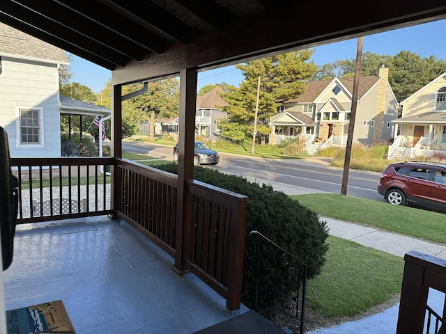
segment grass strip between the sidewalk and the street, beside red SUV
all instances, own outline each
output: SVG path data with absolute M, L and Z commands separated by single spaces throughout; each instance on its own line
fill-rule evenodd
M 446 242 L 445 214 L 335 193 L 292 195 L 321 216 L 370 225 L 436 243 Z

